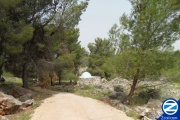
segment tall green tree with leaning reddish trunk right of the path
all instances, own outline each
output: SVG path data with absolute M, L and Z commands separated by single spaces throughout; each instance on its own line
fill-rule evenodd
M 120 53 L 119 59 L 123 64 L 119 67 L 123 71 L 118 69 L 119 74 L 133 79 L 131 90 L 124 101 L 126 103 L 134 95 L 138 80 L 158 74 L 160 68 L 164 67 L 160 64 L 164 59 L 162 51 L 180 37 L 178 0 L 129 1 L 132 12 L 120 18 L 119 28 L 120 36 L 125 36 L 124 39 L 119 39 L 119 49 L 125 48 Z

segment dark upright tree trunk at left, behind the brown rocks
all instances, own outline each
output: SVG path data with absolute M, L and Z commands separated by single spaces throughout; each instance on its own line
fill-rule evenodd
M 28 80 L 27 80 L 27 74 L 26 74 L 26 63 L 23 65 L 23 71 L 22 71 L 22 87 L 28 88 Z

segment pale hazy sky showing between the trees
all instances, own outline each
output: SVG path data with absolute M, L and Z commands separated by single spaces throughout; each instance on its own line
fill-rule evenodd
M 86 11 L 79 22 L 82 47 L 87 48 L 88 43 L 94 42 L 97 37 L 108 38 L 108 31 L 123 13 L 131 12 L 128 0 L 90 0 Z M 175 50 L 180 50 L 180 40 L 173 44 Z

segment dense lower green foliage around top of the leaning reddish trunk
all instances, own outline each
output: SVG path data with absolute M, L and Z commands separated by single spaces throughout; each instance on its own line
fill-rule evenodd
M 166 51 L 136 51 L 126 50 L 122 54 L 116 55 L 105 63 L 106 66 L 112 66 L 109 71 L 120 74 L 121 77 L 133 79 L 136 69 L 141 69 L 139 79 L 151 78 L 161 75 L 162 69 L 169 69 L 171 65 L 170 55 Z M 108 69 L 106 69 L 108 72 Z

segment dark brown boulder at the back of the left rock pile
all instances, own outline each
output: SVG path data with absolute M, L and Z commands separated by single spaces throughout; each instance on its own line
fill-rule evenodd
M 20 98 L 21 96 L 25 95 L 25 94 L 28 94 L 28 93 L 31 93 L 30 90 L 27 90 L 25 88 L 22 88 L 20 86 L 16 86 L 14 89 L 13 89 L 13 97 L 15 98 Z M 32 94 L 32 93 L 31 93 Z

